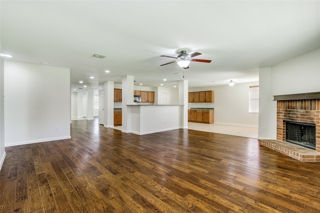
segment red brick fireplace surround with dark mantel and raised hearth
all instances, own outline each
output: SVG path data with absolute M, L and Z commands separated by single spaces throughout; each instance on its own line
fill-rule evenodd
M 259 140 L 260 145 L 303 162 L 320 162 L 320 92 L 274 96 L 276 103 L 276 140 Z M 285 139 L 285 123 L 315 125 L 315 150 Z

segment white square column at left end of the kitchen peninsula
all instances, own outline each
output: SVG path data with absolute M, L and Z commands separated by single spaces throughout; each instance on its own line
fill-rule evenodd
M 122 77 L 122 132 L 130 132 L 130 117 L 126 105 L 133 105 L 133 76 Z

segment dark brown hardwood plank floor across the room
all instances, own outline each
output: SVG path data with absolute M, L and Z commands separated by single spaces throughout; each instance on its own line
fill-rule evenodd
M 138 136 L 80 120 L 69 140 L 5 150 L 1 213 L 320 212 L 320 163 L 252 138 L 186 129 Z

